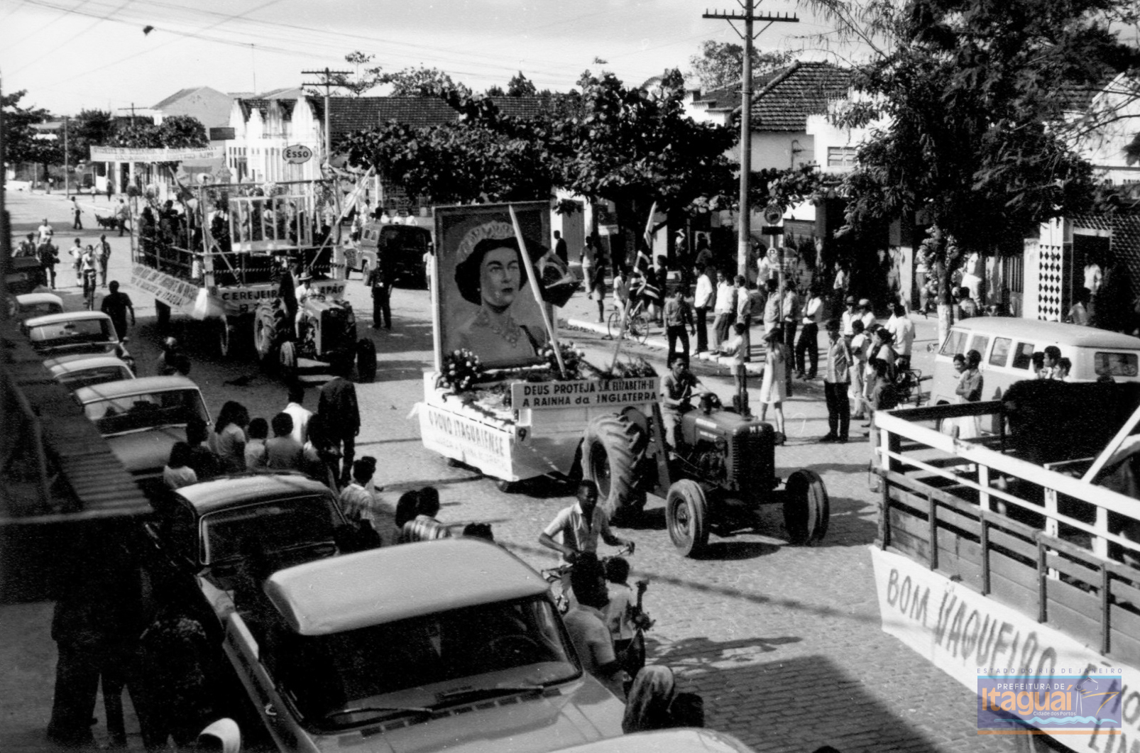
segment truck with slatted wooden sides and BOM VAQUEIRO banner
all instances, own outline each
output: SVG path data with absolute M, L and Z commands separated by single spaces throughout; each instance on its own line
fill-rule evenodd
M 882 629 L 978 693 L 979 734 L 1140 746 L 1138 406 L 1031 379 L 876 415 Z

